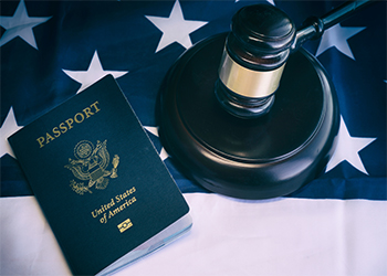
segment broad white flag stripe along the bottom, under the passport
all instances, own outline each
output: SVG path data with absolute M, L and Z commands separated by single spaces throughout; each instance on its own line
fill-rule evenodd
M 386 275 L 387 202 L 185 194 L 191 232 L 117 275 Z M 69 275 L 33 197 L 2 198 L 1 275 Z

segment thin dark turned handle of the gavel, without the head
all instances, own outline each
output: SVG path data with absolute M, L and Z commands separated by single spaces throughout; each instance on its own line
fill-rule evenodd
M 352 0 L 333 9 L 322 18 L 307 18 L 302 26 L 297 30 L 291 51 L 296 51 L 302 44 L 304 44 L 304 42 L 308 40 L 318 39 L 321 35 L 323 35 L 325 30 L 349 18 L 372 2 L 374 1 Z

